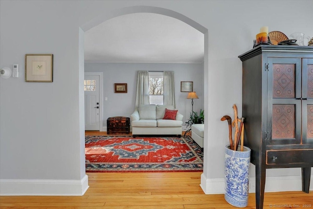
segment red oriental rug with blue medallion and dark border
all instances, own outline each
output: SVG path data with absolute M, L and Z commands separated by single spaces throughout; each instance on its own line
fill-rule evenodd
M 86 172 L 202 171 L 203 152 L 190 137 L 85 137 Z

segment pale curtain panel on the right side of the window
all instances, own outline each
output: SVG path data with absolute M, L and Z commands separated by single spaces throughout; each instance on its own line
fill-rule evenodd
M 164 71 L 164 105 L 175 105 L 174 71 Z

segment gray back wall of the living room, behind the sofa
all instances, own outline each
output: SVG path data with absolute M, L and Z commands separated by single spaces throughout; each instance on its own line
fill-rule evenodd
M 180 92 L 180 81 L 193 81 L 194 91 L 199 99 L 194 99 L 194 111 L 203 110 L 203 64 L 168 63 L 85 63 L 85 72 L 103 72 L 103 127 L 106 119 L 112 116 L 130 116 L 134 112 L 137 71 L 175 72 L 176 109 L 188 120 L 191 113 L 191 100 L 186 92 Z M 127 93 L 114 93 L 114 83 L 127 83 Z

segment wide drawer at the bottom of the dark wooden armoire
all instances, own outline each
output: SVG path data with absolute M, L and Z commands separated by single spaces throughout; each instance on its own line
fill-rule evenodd
M 293 164 L 309 163 L 313 164 L 313 149 L 303 150 L 267 150 L 267 164 Z

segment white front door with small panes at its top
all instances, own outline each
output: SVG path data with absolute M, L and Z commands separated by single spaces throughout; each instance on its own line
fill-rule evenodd
M 100 76 L 88 74 L 84 80 L 85 130 L 100 130 Z

